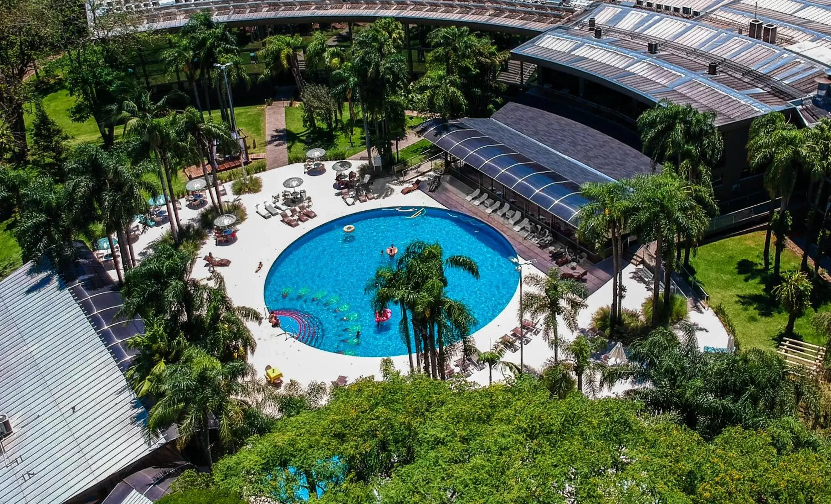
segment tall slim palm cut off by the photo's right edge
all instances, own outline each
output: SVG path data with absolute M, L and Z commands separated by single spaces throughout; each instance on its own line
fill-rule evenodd
M 805 221 L 805 227 L 809 232 L 805 236 L 802 264 L 799 269 L 807 272 L 808 253 L 819 234 L 819 229 L 814 231 L 814 218 L 819 209 L 819 199 L 822 198 L 825 177 L 831 174 L 831 120 L 827 117 L 822 118 L 813 128 L 804 132 L 804 137 L 801 155 L 810 175 L 809 198 L 814 193 L 814 183 L 819 183 L 814 193 L 814 202 L 811 204 L 811 210 Z

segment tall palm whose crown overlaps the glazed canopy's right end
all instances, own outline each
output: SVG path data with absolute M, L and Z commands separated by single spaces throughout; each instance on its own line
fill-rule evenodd
M 589 203 L 579 210 L 578 236 L 592 242 L 598 249 L 612 242 L 612 305 L 609 310 L 609 328 L 614 330 L 620 321 L 623 301 L 623 244 L 627 217 L 630 211 L 630 189 L 625 183 L 584 183 L 580 188 Z

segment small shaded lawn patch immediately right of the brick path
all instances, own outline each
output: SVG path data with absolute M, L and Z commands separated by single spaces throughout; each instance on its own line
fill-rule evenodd
M 355 107 L 356 114 L 360 114 L 359 107 Z M 348 119 L 349 107 L 343 104 L 343 115 Z M 322 123 L 317 124 L 317 131 L 312 132 L 306 126 L 303 126 L 303 115 L 299 106 L 286 107 L 286 136 L 288 144 L 289 156 L 305 156 L 308 149 L 313 147 L 322 147 L 327 150 L 345 150 L 346 157 L 352 156 L 366 150 L 366 143 L 364 142 L 363 124 L 361 120 L 356 121 L 356 125 L 352 128 L 352 144 L 349 142 L 349 135 L 343 132 L 341 125 L 335 128 L 335 135 L 329 135 L 326 130 L 326 125 Z

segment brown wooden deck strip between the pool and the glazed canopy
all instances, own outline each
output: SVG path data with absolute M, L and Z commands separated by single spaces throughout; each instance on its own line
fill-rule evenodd
M 501 232 L 504 237 L 508 238 L 508 241 L 514 246 L 514 249 L 520 257 L 523 257 L 524 259 L 536 259 L 536 267 L 538 267 L 540 271 L 547 272 L 548 268 L 558 267 L 551 260 L 551 257 L 548 256 L 548 253 L 540 247 L 537 247 L 534 243 L 520 238 L 519 235 L 514 232 L 514 230 L 507 223 L 505 223 L 503 219 L 485 213 L 484 208 L 476 207 L 475 205 L 465 201 L 465 196 L 473 191 L 472 188 L 468 188 L 464 183 L 460 182 L 460 180 L 454 179 L 450 176 L 444 176 L 441 180 L 442 183 L 439 188 L 436 189 L 435 193 L 428 193 L 430 198 L 434 198 L 436 201 L 451 210 L 467 213 L 468 215 L 478 218 L 485 223 L 489 223 Z M 422 183 L 420 188 L 422 191 L 426 192 L 427 184 Z M 580 263 L 580 267 L 585 268 L 588 272 L 586 275 L 586 286 L 588 286 L 589 294 L 597 291 L 597 289 L 599 289 L 607 281 L 612 280 L 611 257 L 605 261 L 598 262 L 597 264 L 589 262 L 588 260 L 583 261 Z

